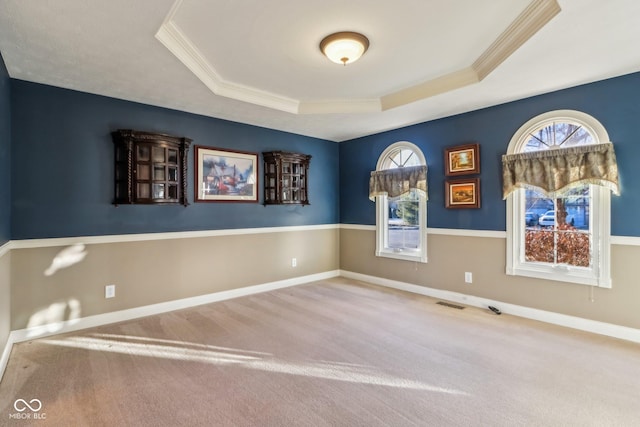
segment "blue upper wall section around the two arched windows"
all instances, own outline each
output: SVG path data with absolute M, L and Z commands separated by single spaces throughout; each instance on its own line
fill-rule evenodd
M 520 126 L 538 114 L 558 109 L 590 114 L 607 129 L 615 146 L 622 187 L 621 196 L 611 199 L 611 232 L 640 236 L 640 73 L 343 142 L 340 221 L 375 224 L 375 204 L 367 194 L 369 172 L 388 145 L 404 140 L 416 144 L 427 157 L 429 227 L 505 230 L 501 156 Z M 480 144 L 482 207 L 446 209 L 443 149 L 470 142 Z

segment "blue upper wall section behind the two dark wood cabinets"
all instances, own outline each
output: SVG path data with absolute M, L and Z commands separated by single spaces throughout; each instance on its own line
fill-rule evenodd
M 12 239 L 338 222 L 336 143 L 51 86 L 11 82 Z M 311 205 L 194 203 L 192 147 L 188 172 L 191 205 L 114 207 L 110 133 L 120 128 L 186 136 L 193 139 L 192 145 L 311 154 Z M 260 201 L 262 188 L 260 176 Z

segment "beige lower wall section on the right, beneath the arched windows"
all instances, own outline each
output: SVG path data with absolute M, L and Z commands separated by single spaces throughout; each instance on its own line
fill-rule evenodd
M 508 276 L 506 240 L 429 234 L 427 264 L 375 256 L 375 231 L 342 229 L 340 268 L 415 285 L 640 329 L 640 247 L 613 245 L 613 287 Z M 464 273 L 473 273 L 473 283 Z

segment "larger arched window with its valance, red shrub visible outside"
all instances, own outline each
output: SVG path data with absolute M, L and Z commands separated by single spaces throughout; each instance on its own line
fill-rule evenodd
M 523 125 L 502 158 L 507 274 L 611 287 L 613 144 L 593 117 L 571 110 Z

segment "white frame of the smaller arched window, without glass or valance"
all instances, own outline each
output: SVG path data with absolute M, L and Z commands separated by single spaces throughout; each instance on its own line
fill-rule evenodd
M 422 150 L 415 144 L 408 141 L 399 141 L 388 146 L 378 158 L 376 170 L 389 169 L 388 157 L 392 153 L 405 149 L 411 150 L 420 161 L 426 166 L 427 161 Z M 376 196 L 376 256 L 394 258 L 405 261 L 427 262 L 427 199 L 423 194 L 419 194 L 418 199 L 418 231 L 420 233 L 419 246 L 417 249 L 394 249 L 387 244 L 389 235 L 389 200 L 387 196 Z

